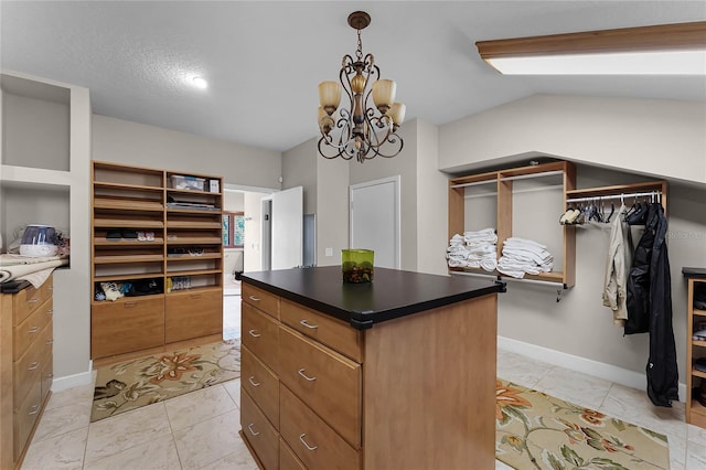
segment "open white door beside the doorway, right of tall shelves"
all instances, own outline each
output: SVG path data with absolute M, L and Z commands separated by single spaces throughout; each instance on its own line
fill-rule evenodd
M 272 193 L 270 221 L 270 268 L 289 269 L 302 266 L 303 256 L 303 188 Z M 267 269 L 266 266 L 263 266 Z

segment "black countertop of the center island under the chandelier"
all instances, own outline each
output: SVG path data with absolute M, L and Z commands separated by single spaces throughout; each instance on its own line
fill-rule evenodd
M 375 268 L 373 282 L 347 284 L 341 266 L 245 273 L 242 280 L 365 330 L 374 323 L 504 292 L 504 282 Z

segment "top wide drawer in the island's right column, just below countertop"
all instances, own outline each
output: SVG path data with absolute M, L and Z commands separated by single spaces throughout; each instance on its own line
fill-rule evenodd
M 361 332 L 345 322 L 282 299 L 281 321 L 354 361 L 362 362 Z

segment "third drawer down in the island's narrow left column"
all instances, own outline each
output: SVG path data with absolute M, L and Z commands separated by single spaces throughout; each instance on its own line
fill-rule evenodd
M 270 423 L 279 427 L 279 378 L 247 349 L 240 349 L 240 386 L 253 397 Z

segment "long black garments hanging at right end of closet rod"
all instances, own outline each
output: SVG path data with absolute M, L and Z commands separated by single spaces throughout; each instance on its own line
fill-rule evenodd
M 667 221 L 661 204 L 650 205 L 645 231 L 628 276 L 625 334 L 650 333 L 648 396 L 655 406 L 678 400 L 678 370 L 672 327 L 672 278 L 666 248 Z

